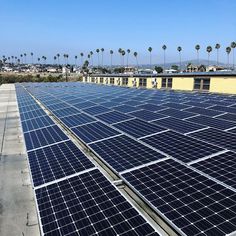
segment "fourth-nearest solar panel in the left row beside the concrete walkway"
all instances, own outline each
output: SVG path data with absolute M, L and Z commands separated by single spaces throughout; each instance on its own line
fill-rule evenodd
M 24 133 L 55 125 L 49 116 L 41 116 L 21 122 Z

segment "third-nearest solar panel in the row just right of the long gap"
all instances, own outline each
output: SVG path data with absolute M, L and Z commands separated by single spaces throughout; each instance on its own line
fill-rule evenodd
M 104 138 L 109 138 L 118 135 L 119 132 L 115 129 L 101 123 L 94 122 L 87 125 L 81 125 L 71 129 L 85 143 L 98 141 Z

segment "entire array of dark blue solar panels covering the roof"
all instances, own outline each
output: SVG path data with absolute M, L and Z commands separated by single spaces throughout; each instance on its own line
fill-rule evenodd
M 236 96 L 83 83 L 23 87 L 177 232 L 236 231 Z M 107 198 L 114 186 L 45 121 L 47 114 L 23 87 L 17 86 L 18 104 L 45 235 L 156 235 L 127 200 L 141 223 L 124 211 L 120 220 L 111 217 L 119 206 Z

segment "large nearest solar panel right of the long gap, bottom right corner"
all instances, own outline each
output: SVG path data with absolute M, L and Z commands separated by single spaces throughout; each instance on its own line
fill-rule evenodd
M 181 234 L 220 236 L 236 230 L 236 193 L 174 160 L 122 176 Z

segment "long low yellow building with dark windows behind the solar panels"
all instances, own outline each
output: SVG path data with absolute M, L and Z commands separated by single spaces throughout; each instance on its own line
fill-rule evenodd
M 91 74 L 84 76 L 83 82 L 135 88 L 236 94 L 236 72 Z

